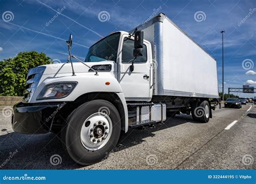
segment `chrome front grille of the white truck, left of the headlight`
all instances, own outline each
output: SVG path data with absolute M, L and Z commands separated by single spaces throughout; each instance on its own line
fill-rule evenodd
M 28 76 L 26 77 L 25 90 L 23 91 L 23 103 L 30 102 L 33 93 L 35 92 L 38 85 L 38 82 L 40 81 L 44 73 L 45 68 L 45 66 L 40 66 L 29 70 Z

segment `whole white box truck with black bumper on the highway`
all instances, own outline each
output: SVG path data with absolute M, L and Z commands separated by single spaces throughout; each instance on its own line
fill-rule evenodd
M 216 61 L 163 13 L 99 40 L 84 62 L 67 43 L 68 62 L 29 70 L 12 128 L 58 134 L 78 164 L 102 160 L 121 130 L 180 112 L 206 123 L 219 104 Z

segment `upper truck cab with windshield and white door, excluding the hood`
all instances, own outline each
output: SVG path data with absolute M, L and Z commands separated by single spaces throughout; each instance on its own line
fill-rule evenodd
M 135 60 L 133 49 L 134 38 L 129 33 L 115 32 L 91 46 L 85 62 L 97 62 L 104 66 L 106 60 L 112 60 L 115 65 L 113 74 L 123 90 L 125 100 L 150 101 L 152 98 L 151 44 L 144 40 L 142 56 Z M 130 70 L 132 61 L 133 72 Z

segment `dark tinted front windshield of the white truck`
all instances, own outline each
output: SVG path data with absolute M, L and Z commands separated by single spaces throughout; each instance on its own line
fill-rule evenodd
M 116 61 L 120 33 L 114 33 L 99 40 L 89 48 L 85 62 Z

